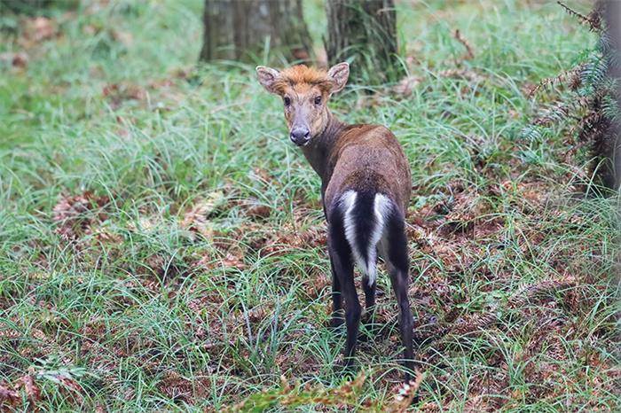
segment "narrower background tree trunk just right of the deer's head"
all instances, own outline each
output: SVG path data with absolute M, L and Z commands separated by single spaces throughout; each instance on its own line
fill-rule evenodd
M 403 76 L 393 0 L 330 0 L 326 4 L 330 65 L 349 60 L 350 77 L 371 84 L 394 82 Z

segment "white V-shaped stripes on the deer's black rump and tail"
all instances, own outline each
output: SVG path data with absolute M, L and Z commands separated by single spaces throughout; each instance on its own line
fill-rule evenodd
M 375 214 L 375 225 L 373 231 L 369 235 L 369 245 L 366 256 L 368 260 L 365 261 L 356 244 L 356 222 L 353 219 L 353 210 L 356 206 L 356 199 L 358 193 L 356 191 L 346 191 L 342 194 L 341 201 L 345 209 L 343 218 L 343 225 L 345 227 L 345 238 L 350 243 L 351 252 L 354 255 L 354 260 L 358 268 L 368 277 L 369 285 L 373 285 L 375 278 L 377 277 L 377 243 L 380 242 L 381 236 L 384 232 L 384 226 L 386 219 L 390 212 L 390 199 L 381 193 L 375 194 L 373 199 L 373 213 Z

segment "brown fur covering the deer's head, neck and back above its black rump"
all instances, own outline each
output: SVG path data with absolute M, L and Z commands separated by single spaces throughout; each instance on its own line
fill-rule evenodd
M 326 105 L 331 93 L 342 88 L 338 77 L 331 77 L 334 72 L 304 65 L 280 72 L 262 69 L 273 76 L 263 86 L 290 100 L 284 106 L 289 129 L 303 125 L 310 130 L 311 140 L 303 153 L 324 183 L 326 212 L 337 195 L 353 189 L 381 192 L 405 214 L 411 183 L 404 152 L 389 129 L 379 125 L 348 126 L 334 118 Z M 314 103 L 316 97 L 321 97 L 320 105 Z

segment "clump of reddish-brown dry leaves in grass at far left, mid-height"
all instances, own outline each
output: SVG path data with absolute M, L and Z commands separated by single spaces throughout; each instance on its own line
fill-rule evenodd
M 75 240 L 89 234 L 96 225 L 107 218 L 104 207 L 109 202 L 107 197 L 99 197 L 90 191 L 80 195 L 62 195 L 58 204 L 52 209 L 56 232 L 66 240 Z

